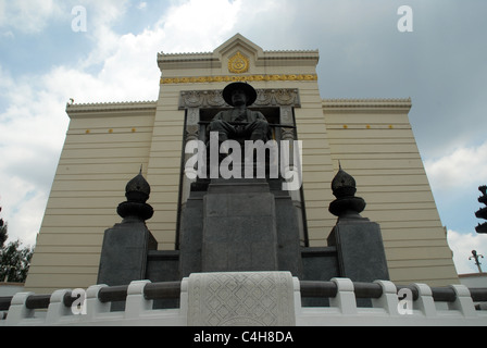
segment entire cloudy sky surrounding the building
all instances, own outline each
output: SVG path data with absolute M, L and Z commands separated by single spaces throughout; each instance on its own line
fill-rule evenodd
M 409 33 L 398 29 L 404 4 Z M 0 0 L 0 216 L 11 239 L 35 244 L 70 98 L 155 100 L 157 52 L 212 51 L 240 33 L 264 50 L 319 49 L 323 98 L 412 98 L 457 269 L 476 272 L 471 250 L 487 258 L 474 231 L 487 184 L 486 13 L 485 0 Z

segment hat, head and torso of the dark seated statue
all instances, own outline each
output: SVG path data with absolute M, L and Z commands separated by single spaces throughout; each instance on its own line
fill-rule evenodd
M 218 133 L 218 142 L 228 139 L 267 141 L 271 128 L 267 120 L 259 111 L 247 109 L 257 99 L 257 91 L 245 83 L 233 83 L 223 90 L 225 101 L 233 110 L 221 111 L 209 125 L 209 132 Z

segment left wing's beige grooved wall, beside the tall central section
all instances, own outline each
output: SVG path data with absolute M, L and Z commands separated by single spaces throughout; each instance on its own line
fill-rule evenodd
M 26 289 L 96 284 L 103 232 L 140 165 L 147 170 L 155 103 L 73 105 Z

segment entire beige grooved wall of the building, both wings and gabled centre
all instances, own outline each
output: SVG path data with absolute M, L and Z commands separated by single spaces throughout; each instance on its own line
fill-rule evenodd
M 245 74 L 229 72 L 240 51 Z M 126 183 L 142 174 L 154 216 L 147 222 L 160 250 L 175 248 L 185 110 L 182 91 L 222 90 L 233 79 L 257 89 L 299 89 L 295 109 L 303 141 L 303 196 L 311 246 L 326 246 L 338 160 L 380 224 L 392 281 L 458 283 L 451 251 L 416 148 L 409 100 L 325 100 L 316 51 L 264 52 L 236 35 L 214 52 L 160 54 L 155 102 L 68 105 L 70 128 L 52 185 L 26 289 L 87 288 L 97 281 L 103 232 L 121 221 Z

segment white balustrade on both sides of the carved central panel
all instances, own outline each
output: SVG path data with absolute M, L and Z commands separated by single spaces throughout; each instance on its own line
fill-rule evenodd
M 215 274 L 212 275 L 213 277 Z M 217 276 L 217 275 L 216 275 Z M 225 282 L 228 281 L 228 274 Z M 143 288 L 149 281 L 133 282 L 127 289 L 125 310 L 112 312 L 111 303 L 100 300 L 100 290 L 105 285 L 96 285 L 86 290 L 86 302 L 78 300 L 75 304 L 86 307 L 66 307 L 65 297 L 71 290 L 57 290 L 50 297 L 49 307 L 43 310 L 29 309 L 28 298 L 33 293 L 16 294 L 8 311 L 0 312 L 1 326 L 97 326 L 97 325 L 137 325 L 137 326 L 187 326 L 188 301 L 192 298 L 189 278 L 185 278 L 180 286 L 179 308 L 152 309 L 153 300 L 147 299 Z M 402 299 L 398 297 L 397 287 L 391 282 L 376 281 L 380 286 L 382 296 L 372 299 L 371 308 L 357 306 L 354 284 L 347 278 L 334 278 L 336 285 L 335 297 L 329 298 L 329 307 L 302 307 L 300 282 L 291 278 L 290 284 L 294 296 L 287 297 L 287 301 L 294 302 L 294 314 L 297 326 L 354 326 L 354 325 L 480 325 L 487 326 L 487 311 L 476 310 L 469 288 L 463 285 L 451 285 L 455 294 L 455 300 L 439 306 L 433 298 L 432 288 L 425 284 L 414 284 L 417 298 Z M 247 285 L 248 286 L 248 285 Z M 407 301 L 411 300 L 412 303 Z M 203 303 L 204 304 L 204 303 Z M 409 304 L 411 304 L 409 307 Z M 239 306 L 232 304 L 228 306 Z M 32 307 L 32 306 L 30 306 Z M 485 304 L 480 308 L 485 309 Z M 5 319 L 7 314 L 7 319 Z

